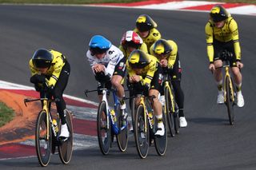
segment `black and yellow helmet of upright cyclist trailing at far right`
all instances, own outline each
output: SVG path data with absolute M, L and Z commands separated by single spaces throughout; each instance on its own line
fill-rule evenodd
M 229 17 L 229 13 L 222 6 L 214 6 L 210 10 L 210 18 L 213 22 L 222 22 Z

